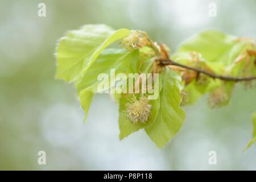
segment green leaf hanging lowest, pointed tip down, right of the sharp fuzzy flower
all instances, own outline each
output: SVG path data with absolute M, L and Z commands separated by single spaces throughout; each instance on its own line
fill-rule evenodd
M 162 148 L 180 130 L 185 113 L 180 107 L 181 78 L 176 72 L 167 69 L 160 73 L 162 90 L 159 94 L 159 110 L 155 122 L 145 127 L 148 136 Z

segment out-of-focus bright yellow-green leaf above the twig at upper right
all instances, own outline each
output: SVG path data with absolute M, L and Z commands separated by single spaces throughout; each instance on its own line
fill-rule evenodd
M 227 67 L 229 65 L 234 66 L 238 56 L 245 53 L 247 49 L 255 49 L 254 44 L 254 39 L 239 39 L 221 31 L 208 30 L 183 43 L 178 53 L 198 52 L 207 61 L 208 66 L 212 63 L 219 63 Z M 223 73 L 225 72 L 220 74 Z M 233 73 L 232 75 L 238 76 Z

